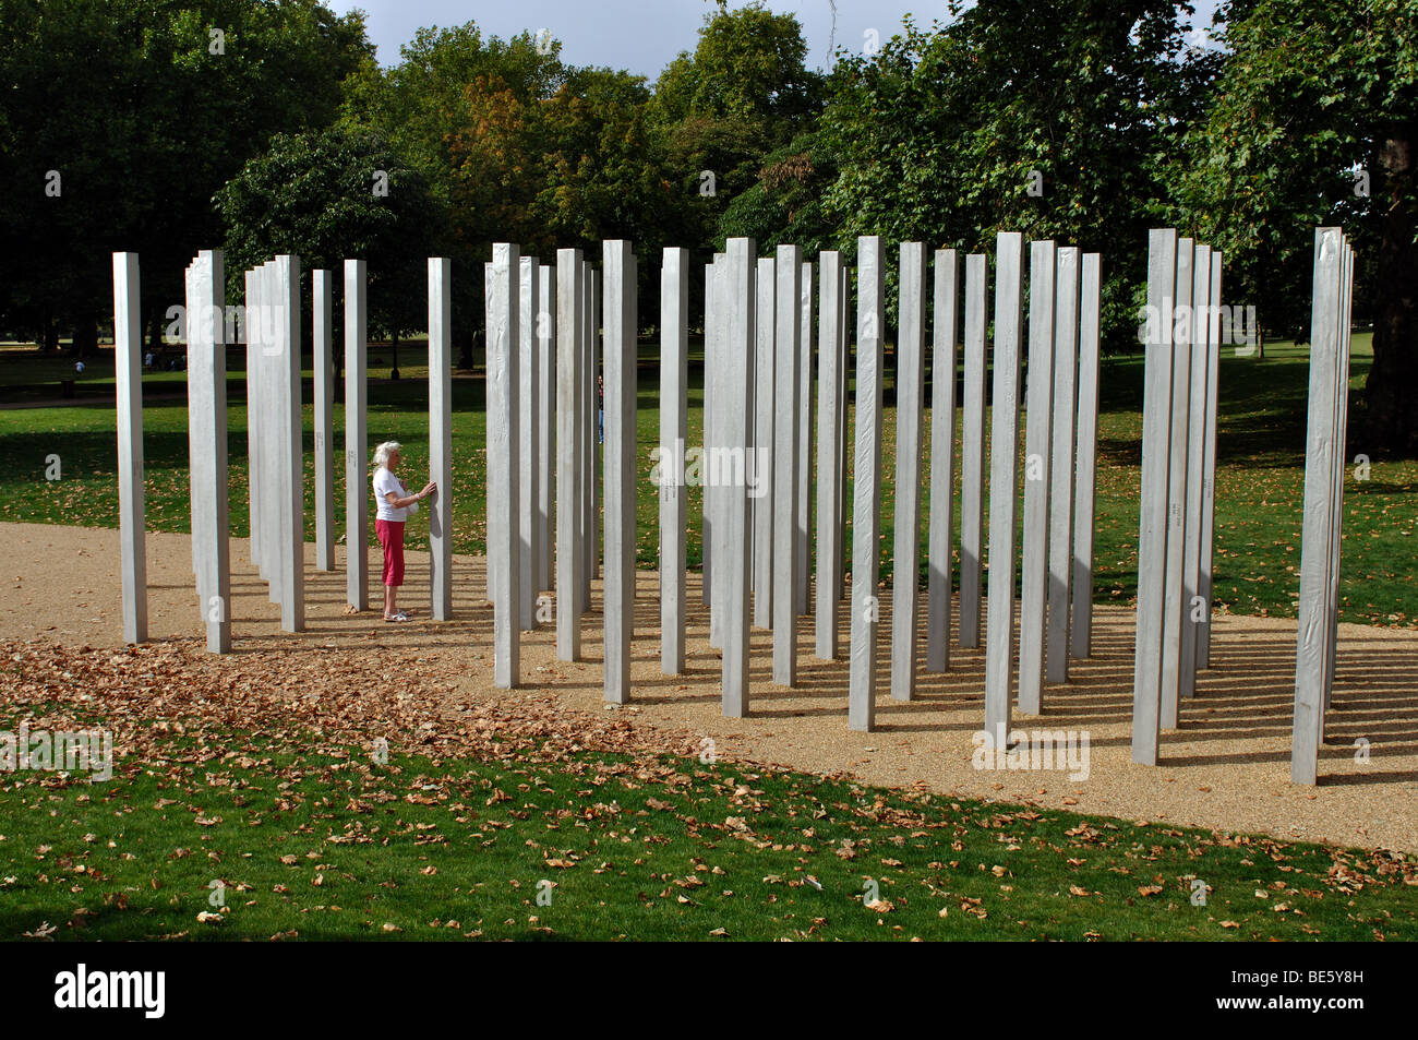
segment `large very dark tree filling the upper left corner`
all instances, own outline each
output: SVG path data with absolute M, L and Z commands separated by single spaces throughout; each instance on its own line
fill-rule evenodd
M 220 236 L 213 193 L 277 131 L 333 119 L 370 52 L 363 16 L 318 0 L 0 0 L 0 314 L 92 342 L 109 254 L 135 250 L 160 328 Z

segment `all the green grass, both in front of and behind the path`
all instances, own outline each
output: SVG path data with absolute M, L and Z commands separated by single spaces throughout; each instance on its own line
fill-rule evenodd
M 641 345 L 637 543 L 645 566 L 654 566 L 658 531 L 648 480 L 658 438 L 654 355 L 654 345 Z M 404 377 L 397 382 L 387 377 L 387 348 L 372 348 L 370 356 L 379 359 L 372 363 L 370 448 L 396 437 L 408 472 L 421 472 L 421 345 L 400 348 Z M 44 380 L 68 376 L 51 373 L 50 362 L 30 363 L 0 350 L 0 402 L 57 399 L 57 386 Z M 1361 386 L 1367 366 L 1367 336 L 1357 336 L 1351 387 Z M 1263 362 L 1222 362 L 1215 587 L 1231 610 L 1293 616 L 1306 379 L 1306 353 L 1290 345 L 1268 346 Z M 153 529 L 187 531 L 183 386 L 182 373 L 160 373 L 147 386 Z M 691 443 L 699 433 L 700 386 L 695 366 Z M 1102 387 L 1096 593 L 1126 602 L 1136 576 L 1140 359 L 1105 362 Z M 247 533 L 242 392 L 241 373 L 233 372 L 231 526 L 238 536 Z M 0 407 L 0 450 L 10 463 L 0 474 L 0 516 L 116 524 L 111 356 L 88 366 L 78 402 Z M 484 416 L 481 377 L 459 375 L 459 552 L 484 548 Z M 309 525 L 309 409 L 305 419 Z M 340 430 L 339 407 L 335 421 Z M 883 433 L 889 576 L 891 406 Z M 50 454 L 61 460 L 58 481 L 44 477 Z M 959 465 L 956 474 L 959 492 Z M 1418 593 L 1395 560 L 1411 555 L 1418 465 L 1374 463 L 1371 480 L 1350 475 L 1346 495 L 1343 617 L 1412 623 Z M 698 562 L 698 489 L 691 489 L 691 519 Z M 421 531 L 415 521 L 415 543 Z M 306 536 L 313 538 L 309 526 Z M 0 731 L 44 708 L 0 705 Z M 156 732 L 167 722 L 140 725 Z M 207 726 L 186 735 L 172 726 L 149 734 L 143 752 L 122 759 L 104 783 L 0 773 L 0 820 L 6 939 L 26 932 L 57 939 L 1418 938 L 1412 864 L 1385 853 L 1137 826 L 668 755 L 547 756 L 536 743 L 441 759 L 391 753 L 376 763 L 367 746 L 332 743 L 295 726 L 264 734 Z M 224 905 L 214 905 L 213 883 Z

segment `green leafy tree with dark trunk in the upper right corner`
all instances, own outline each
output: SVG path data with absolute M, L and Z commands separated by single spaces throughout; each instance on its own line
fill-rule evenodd
M 1418 451 L 1418 3 L 1246 0 L 1184 199 L 1228 254 L 1228 284 L 1309 333 L 1313 231 L 1344 224 L 1374 315 L 1361 427 L 1370 451 Z M 1367 254 L 1367 255 L 1366 255 Z M 1234 280 L 1234 281 L 1232 281 Z M 1366 284 L 1367 282 L 1367 284 Z

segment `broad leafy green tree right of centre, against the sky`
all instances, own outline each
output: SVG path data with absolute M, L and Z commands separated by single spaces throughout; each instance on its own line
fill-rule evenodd
M 951 3 L 953 21 L 842 54 L 822 115 L 841 176 L 824 199 L 838 244 L 862 234 L 970 251 L 1000 230 L 1106 255 L 1103 336 L 1136 349 L 1156 156 L 1200 108 L 1210 58 L 1174 6 L 1081 0 Z

